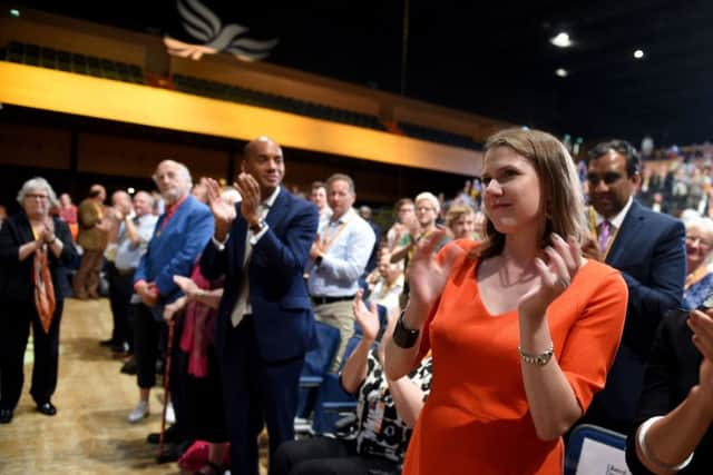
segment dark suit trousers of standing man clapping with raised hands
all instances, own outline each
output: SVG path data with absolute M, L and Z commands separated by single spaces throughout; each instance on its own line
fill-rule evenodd
M 253 317 L 246 315 L 237 327 L 231 326 L 218 358 L 233 475 L 257 475 L 257 436 L 264 425 L 270 434 L 271 467 L 277 447 L 294 438 L 304 355 L 265 362 L 253 325 Z

